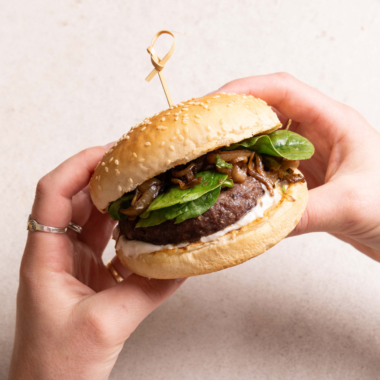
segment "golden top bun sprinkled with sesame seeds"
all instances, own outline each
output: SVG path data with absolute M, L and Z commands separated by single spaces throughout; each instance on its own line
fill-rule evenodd
M 279 127 L 275 112 L 252 95 L 220 93 L 178 103 L 132 127 L 105 153 L 90 180 L 92 201 L 106 212 L 147 179 Z

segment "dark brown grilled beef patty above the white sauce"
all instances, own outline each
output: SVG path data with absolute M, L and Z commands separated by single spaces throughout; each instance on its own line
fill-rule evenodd
M 135 220 L 120 220 L 120 233 L 130 240 L 141 240 L 152 244 L 179 244 L 196 242 L 202 236 L 211 235 L 237 222 L 249 210 L 256 206 L 257 199 L 264 194 L 261 183 L 251 177 L 242 184 L 225 187 L 218 200 L 206 212 L 196 218 L 174 224 L 166 220 L 157 226 L 135 228 Z

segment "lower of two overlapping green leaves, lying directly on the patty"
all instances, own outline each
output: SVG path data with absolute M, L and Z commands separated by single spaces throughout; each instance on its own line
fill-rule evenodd
M 177 203 L 173 206 L 154 210 L 150 212 L 149 217 L 140 218 L 136 227 L 155 226 L 165 222 L 165 220 L 171 220 L 174 218 L 176 218 L 174 223 L 181 223 L 186 219 L 196 218 L 206 212 L 217 201 L 220 187 L 221 185 L 192 201 Z

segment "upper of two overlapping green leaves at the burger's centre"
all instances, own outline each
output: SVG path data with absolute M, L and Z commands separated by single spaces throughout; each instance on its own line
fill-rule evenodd
M 173 206 L 177 203 L 186 203 L 199 198 L 203 194 L 214 190 L 220 186 L 227 179 L 227 174 L 219 173 L 215 170 L 207 170 L 200 173 L 196 173 L 196 177 L 202 177 L 202 182 L 199 185 L 189 187 L 187 189 L 181 189 L 179 185 L 169 187 L 164 193 L 160 194 L 150 204 L 147 211 L 141 214 L 140 217 L 146 218 L 147 212 L 162 209 L 164 207 Z

